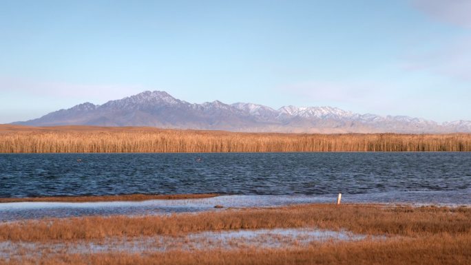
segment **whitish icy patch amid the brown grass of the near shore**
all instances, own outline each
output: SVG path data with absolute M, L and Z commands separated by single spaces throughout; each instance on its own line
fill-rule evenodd
M 120 237 L 92 242 L 0 242 L 0 257 L 23 257 L 24 253 L 152 253 L 214 248 L 295 248 L 313 242 L 364 240 L 366 235 L 313 228 L 203 231 L 182 236 Z M 378 237 L 379 238 L 379 237 Z

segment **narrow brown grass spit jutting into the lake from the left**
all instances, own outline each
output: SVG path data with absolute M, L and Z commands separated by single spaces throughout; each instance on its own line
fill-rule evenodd
M 38 197 L 38 198 L 0 198 L 5 202 L 139 202 L 143 200 L 186 200 L 216 197 L 218 194 L 129 194 L 129 195 L 103 195 L 103 196 L 65 196 L 65 197 Z

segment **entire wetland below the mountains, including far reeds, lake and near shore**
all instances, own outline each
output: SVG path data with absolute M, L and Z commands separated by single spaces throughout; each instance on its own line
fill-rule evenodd
M 469 264 L 470 142 L 2 125 L 0 263 Z

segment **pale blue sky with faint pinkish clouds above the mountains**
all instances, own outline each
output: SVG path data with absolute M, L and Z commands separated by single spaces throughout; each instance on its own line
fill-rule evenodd
M 471 120 L 471 0 L 0 0 L 0 123 L 145 90 Z

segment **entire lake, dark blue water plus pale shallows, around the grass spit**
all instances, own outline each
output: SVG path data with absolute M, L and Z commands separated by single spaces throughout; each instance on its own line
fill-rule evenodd
M 220 193 L 149 202 L 0 204 L 0 220 L 311 202 L 471 204 L 471 153 L 0 154 L 0 197 Z

